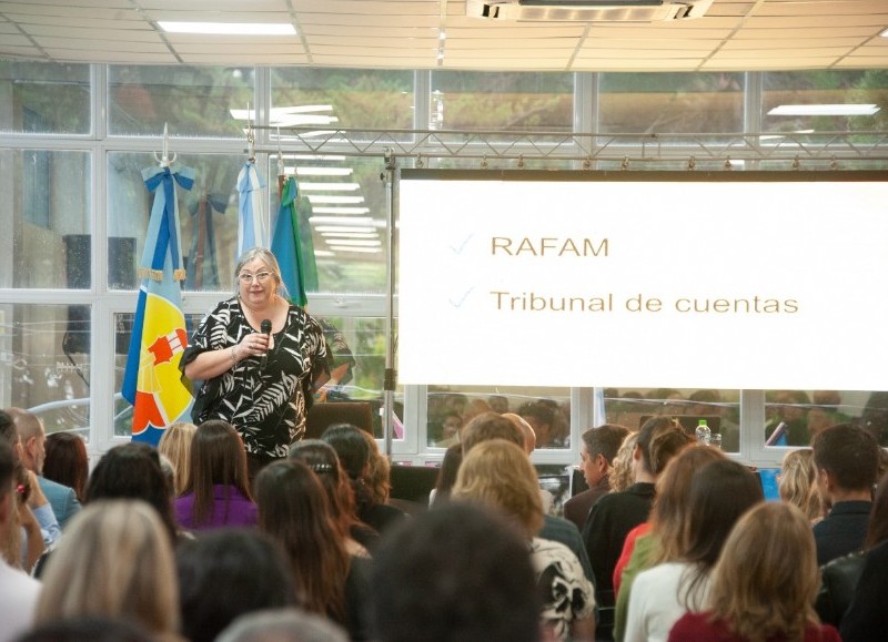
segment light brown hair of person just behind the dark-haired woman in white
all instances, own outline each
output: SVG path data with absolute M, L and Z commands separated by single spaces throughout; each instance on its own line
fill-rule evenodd
M 657 496 L 650 521 L 657 533 L 656 563 L 673 561 L 684 552 L 684 532 L 690 512 L 694 476 L 707 463 L 726 459 L 717 448 L 688 446 L 673 458 L 657 479 Z

